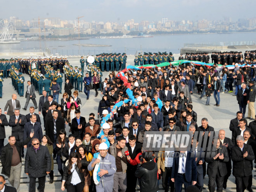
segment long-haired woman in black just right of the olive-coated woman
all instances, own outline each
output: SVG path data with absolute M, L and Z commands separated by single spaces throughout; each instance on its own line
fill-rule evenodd
M 63 161 L 65 160 L 65 159 L 62 159 L 62 151 L 68 142 L 68 138 L 66 136 L 67 136 L 66 131 L 62 129 L 59 131 L 59 136 L 56 140 L 56 150 L 57 150 L 56 161 L 58 164 L 58 171 L 61 173 L 61 176 L 63 175 L 62 166 L 63 166 Z

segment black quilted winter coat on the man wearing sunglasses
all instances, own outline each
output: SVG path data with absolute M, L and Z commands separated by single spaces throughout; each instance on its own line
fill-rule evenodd
M 28 173 L 29 177 L 39 178 L 46 175 L 46 172 L 51 171 L 52 159 L 47 147 L 40 145 L 35 152 L 33 146 L 28 147 L 24 171 Z

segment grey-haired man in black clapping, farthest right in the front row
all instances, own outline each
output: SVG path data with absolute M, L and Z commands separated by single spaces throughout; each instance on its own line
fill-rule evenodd
M 237 136 L 236 144 L 231 150 L 233 175 L 237 192 L 243 192 L 248 186 L 249 176 L 252 175 L 254 154 L 251 145 L 244 144 L 243 136 Z

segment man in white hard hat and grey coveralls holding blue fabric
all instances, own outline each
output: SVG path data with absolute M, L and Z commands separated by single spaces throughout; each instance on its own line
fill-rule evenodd
M 93 171 L 93 180 L 97 192 L 112 192 L 114 173 L 116 173 L 116 159 L 107 152 L 107 144 L 101 143 L 99 154 L 88 165 L 88 171 Z M 104 184 L 103 184 L 104 183 Z

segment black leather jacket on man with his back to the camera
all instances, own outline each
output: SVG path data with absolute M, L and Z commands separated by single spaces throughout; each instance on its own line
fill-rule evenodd
M 158 191 L 157 183 L 157 164 L 154 160 L 147 163 L 138 164 L 135 176 L 140 178 L 141 192 L 156 192 Z

